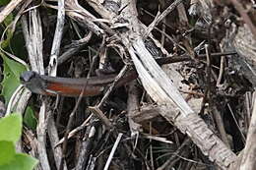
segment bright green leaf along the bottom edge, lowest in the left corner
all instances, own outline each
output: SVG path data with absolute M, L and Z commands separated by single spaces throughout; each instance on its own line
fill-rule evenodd
M 24 153 L 17 153 L 9 164 L 1 165 L 1 170 L 32 170 L 37 160 Z

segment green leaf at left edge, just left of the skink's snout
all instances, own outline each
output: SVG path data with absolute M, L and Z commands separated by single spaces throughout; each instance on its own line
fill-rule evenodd
M 3 86 L 1 95 L 4 95 L 8 103 L 13 92 L 20 85 L 20 75 L 26 71 L 26 67 L 14 60 L 9 59 L 1 53 L 4 60 L 4 80 L 1 83 Z

